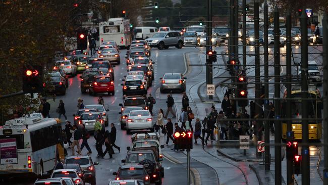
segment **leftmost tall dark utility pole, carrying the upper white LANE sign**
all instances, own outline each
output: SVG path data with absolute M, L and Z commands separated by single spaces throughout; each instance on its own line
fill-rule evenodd
M 212 50 L 212 0 L 207 0 L 207 24 L 206 24 L 206 53 Z M 209 60 L 209 56 L 206 55 L 206 84 L 213 83 L 212 73 L 212 61 Z M 208 97 L 209 100 L 213 99 L 213 96 Z

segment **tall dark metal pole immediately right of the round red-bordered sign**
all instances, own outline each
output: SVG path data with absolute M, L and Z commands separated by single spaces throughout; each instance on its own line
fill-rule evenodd
M 268 29 L 268 13 L 267 13 L 267 2 L 265 0 L 264 2 L 264 93 L 265 93 L 265 99 L 269 98 L 269 55 L 268 55 L 268 38 L 267 38 L 267 29 Z M 269 114 L 269 101 L 264 101 L 264 118 L 268 118 Z M 264 169 L 270 170 L 270 123 L 269 121 L 265 121 L 264 125 Z

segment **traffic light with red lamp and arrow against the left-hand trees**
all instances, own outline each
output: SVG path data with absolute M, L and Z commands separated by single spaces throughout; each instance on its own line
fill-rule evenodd
M 42 66 L 30 66 L 23 69 L 23 92 L 42 92 L 43 70 Z

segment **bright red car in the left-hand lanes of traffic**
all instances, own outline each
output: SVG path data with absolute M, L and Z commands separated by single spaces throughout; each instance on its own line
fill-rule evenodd
M 111 76 L 95 76 L 89 87 L 89 94 L 95 96 L 100 92 L 108 92 L 108 95 L 115 95 L 114 80 Z

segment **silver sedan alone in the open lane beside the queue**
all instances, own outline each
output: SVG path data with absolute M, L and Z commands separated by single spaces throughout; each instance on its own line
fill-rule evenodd
M 160 79 L 160 92 L 165 90 L 186 90 L 186 77 L 181 73 L 165 73 Z

